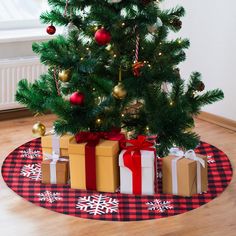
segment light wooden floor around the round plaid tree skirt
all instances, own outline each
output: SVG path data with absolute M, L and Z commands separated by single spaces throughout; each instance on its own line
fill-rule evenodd
M 52 116 L 41 119 L 51 127 Z M 36 118 L 0 122 L 0 165 L 13 149 L 32 139 Z M 222 149 L 236 165 L 236 133 L 197 120 L 202 140 Z M 236 235 L 236 176 L 226 191 L 212 202 L 185 214 L 161 220 L 106 222 L 75 218 L 37 207 L 12 192 L 0 177 L 1 236 L 77 235 Z

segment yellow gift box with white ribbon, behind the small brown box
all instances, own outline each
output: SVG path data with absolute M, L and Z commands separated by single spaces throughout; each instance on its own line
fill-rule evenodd
M 46 154 L 52 154 L 53 152 L 59 156 L 68 157 L 69 142 L 73 138 L 72 135 L 65 134 L 58 135 L 46 135 L 41 138 L 43 159 L 47 158 Z

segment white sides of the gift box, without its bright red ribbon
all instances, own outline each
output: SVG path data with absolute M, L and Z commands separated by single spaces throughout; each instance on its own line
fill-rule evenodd
M 119 155 L 120 166 L 120 192 L 133 194 L 133 176 L 129 168 L 124 166 L 123 150 Z M 133 154 L 133 153 L 132 153 Z M 153 151 L 141 151 L 142 164 L 142 194 L 153 195 L 155 193 L 155 154 Z

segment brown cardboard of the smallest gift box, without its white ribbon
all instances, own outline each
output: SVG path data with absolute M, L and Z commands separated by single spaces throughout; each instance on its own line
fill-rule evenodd
M 41 164 L 42 169 L 42 183 L 51 183 L 51 169 L 50 163 L 52 160 L 44 160 Z M 68 161 L 57 161 L 56 163 L 56 183 L 55 184 L 67 184 L 69 180 L 69 162 Z

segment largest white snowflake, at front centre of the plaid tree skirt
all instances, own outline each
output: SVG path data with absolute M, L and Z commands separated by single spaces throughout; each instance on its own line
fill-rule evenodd
M 119 202 L 117 199 L 102 194 L 80 197 L 76 208 L 89 213 L 90 215 L 104 215 L 118 212 Z

